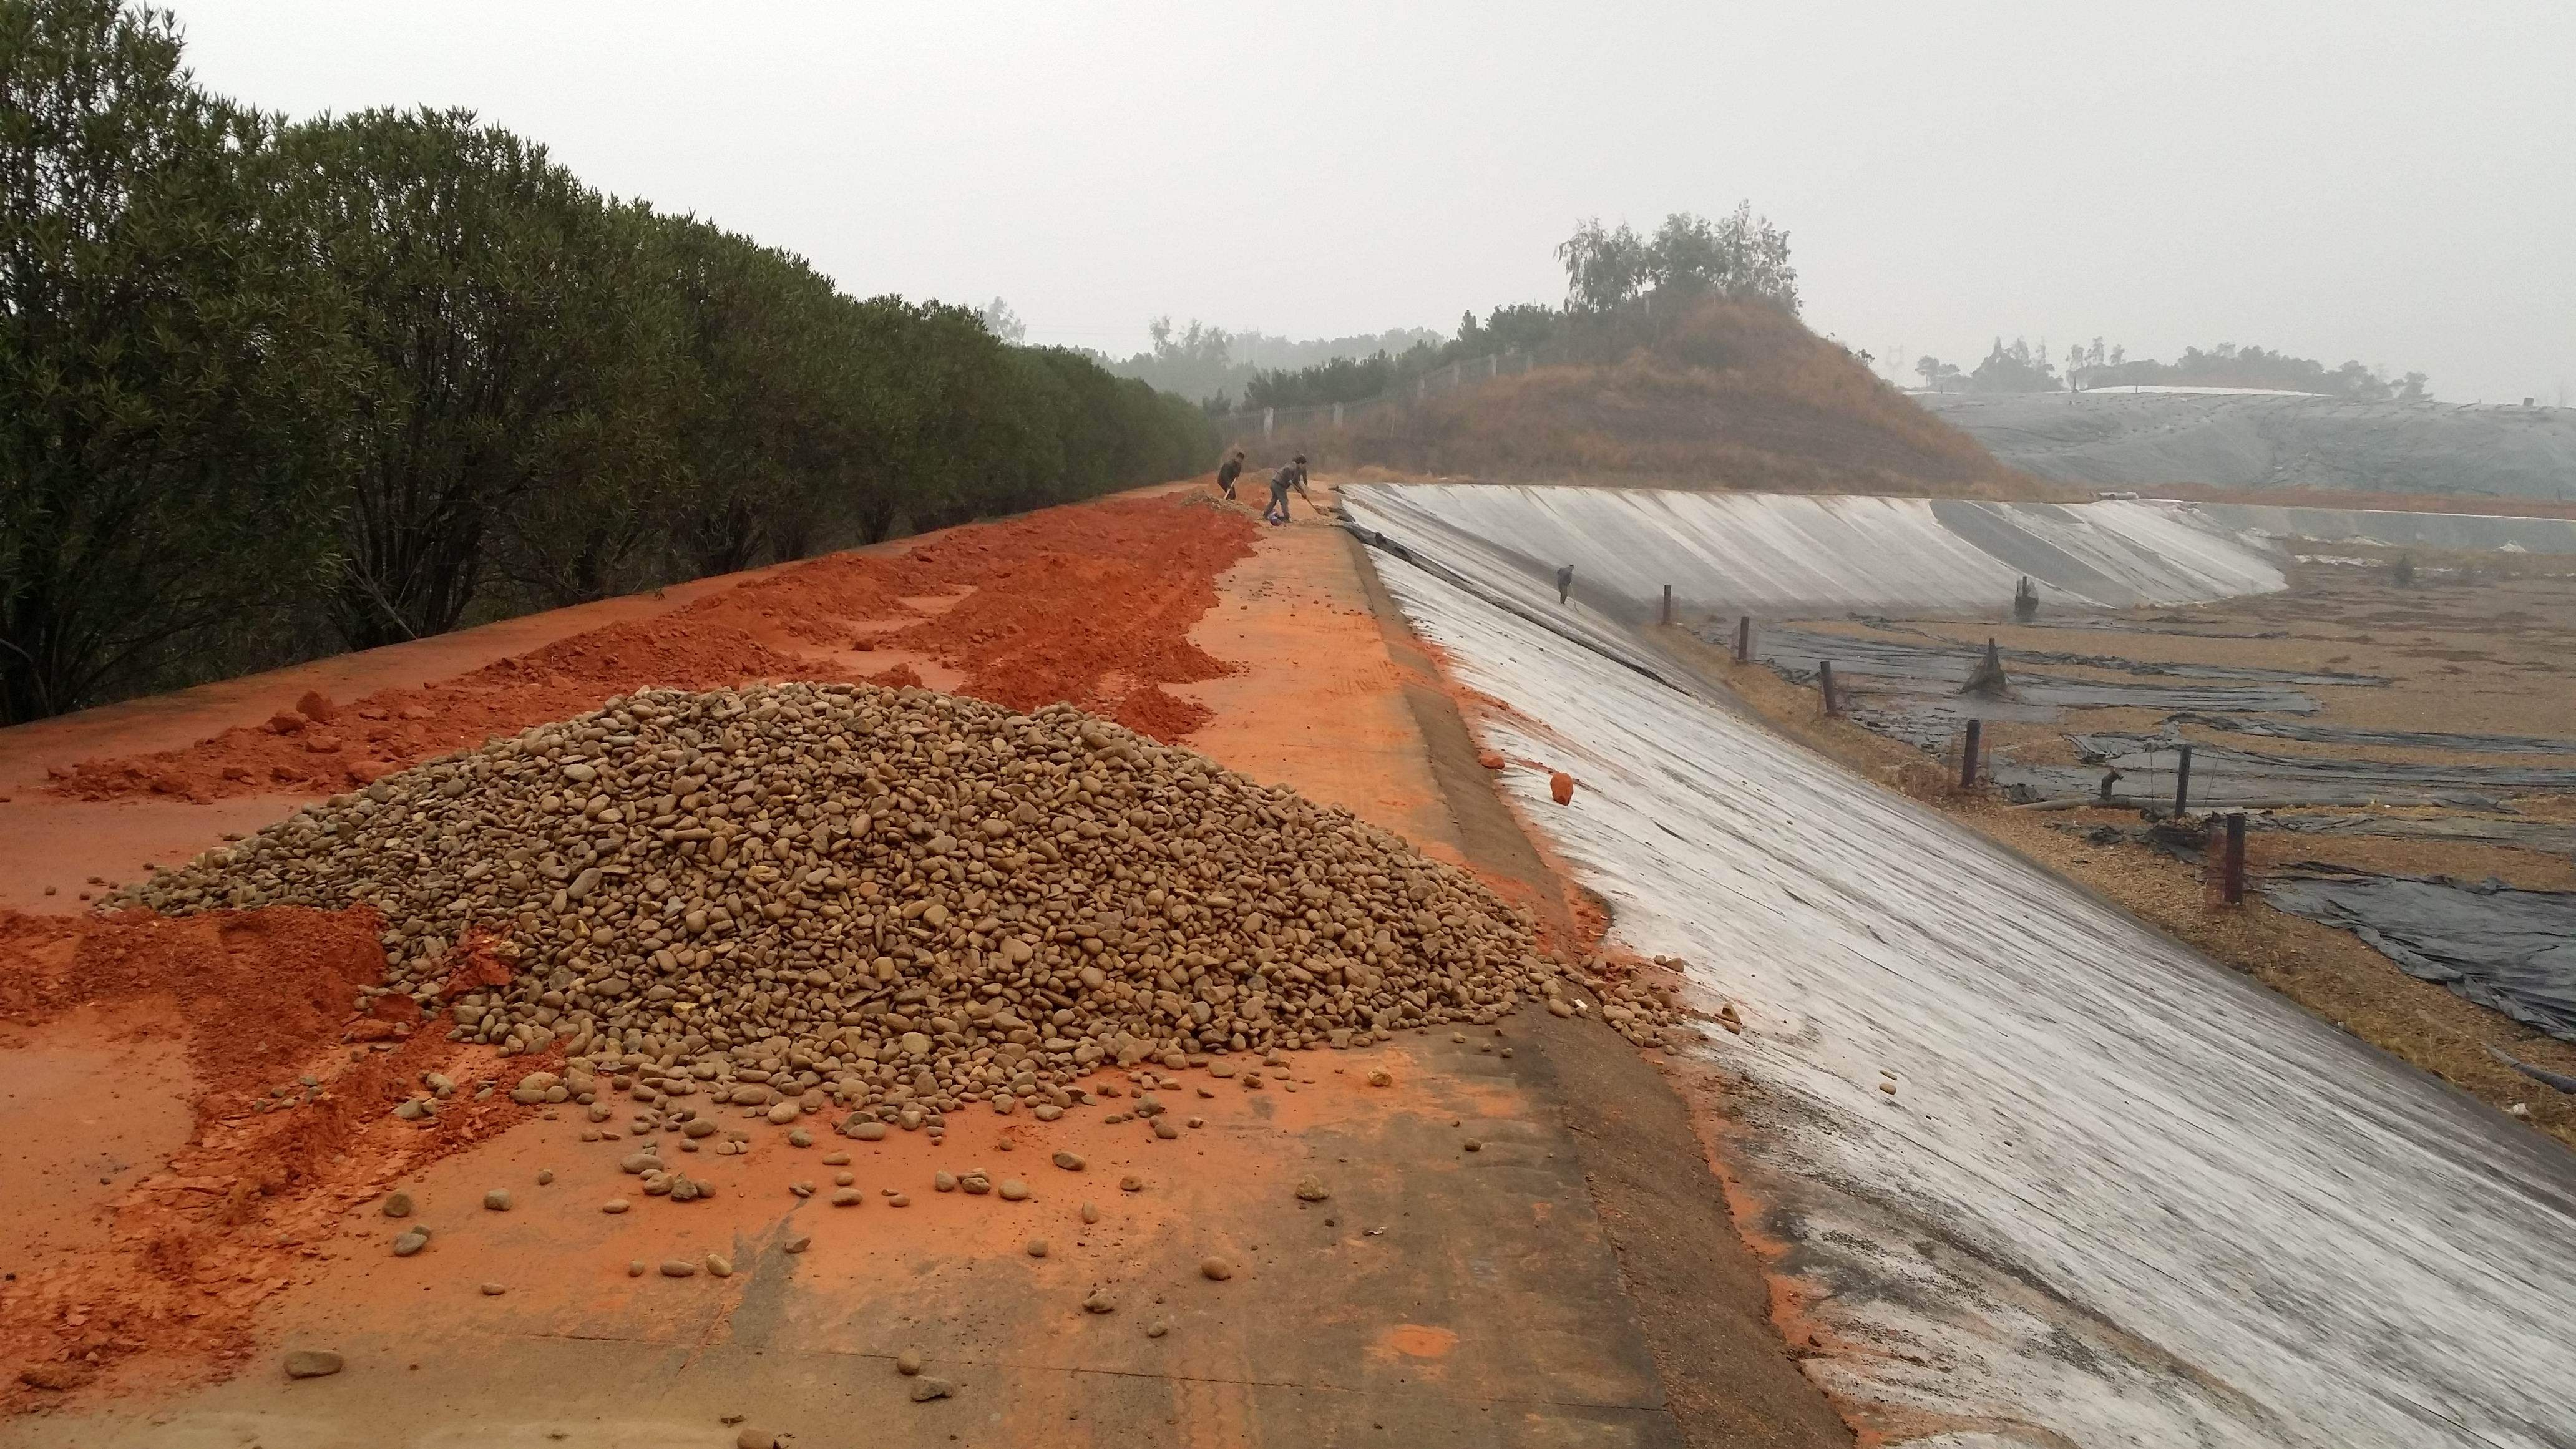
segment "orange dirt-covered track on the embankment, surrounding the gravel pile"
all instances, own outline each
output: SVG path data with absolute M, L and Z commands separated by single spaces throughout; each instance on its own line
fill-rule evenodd
M 0 1225 L 0 1449 L 716 1446 L 742 1415 L 804 1446 L 853 1415 L 925 1449 L 1852 1444 L 1687 1106 L 1592 1021 L 1291 1052 L 1244 1070 L 1267 1091 L 1167 1075 L 1177 1142 L 1103 1109 L 958 1114 L 945 1142 L 762 1134 L 690 1165 L 716 1201 L 603 1214 L 629 1147 L 507 1098 L 549 1060 L 350 1016 L 374 913 L 77 915 L 137 861 L 613 694 L 876 678 L 1185 737 L 1484 871 L 1558 944 L 1595 936 L 1350 539 L 1211 503 L 1146 490 L 0 732 L 0 1181 L 33 1189 Z M 459 972 L 507 969 L 477 951 Z M 1365 1085 L 1381 1067 L 1394 1085 Z M 459 1083 L 451 1109 L 394 1119 L 422 1073 Z M 863 1209 L 791 1196 L 832 1150 Z M 1066 1150 L 1087 1171 L 1048 1165 Z M 966 1165 L 1036 1194 L 930 1191 Z M 1332 1199 L 1298 1201 L 1303 1173 Z M 500 1186 L 518 1207 L 482 1212 Z M 394 1189 L 433 1230 L 412 1258 Z M 706 1253 L 737 1271 L 629 1276 Z M 1231 1281 L 1198 1274 L 1211 1253 Z M 1118 1312 L 1082 1312 L 1092 1289 Z M 953 1403 L 907 1403 L 904 1346 Z M 348 1369 L 291 1382 L 289 1348 Z

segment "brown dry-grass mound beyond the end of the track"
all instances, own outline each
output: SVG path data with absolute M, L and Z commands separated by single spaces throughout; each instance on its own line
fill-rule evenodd
M 1703 302 L 1597 358 L 1504 376 L 1316 438 L 1329 467 L 1695 490 L 2076 498 L 2007 469 L 1762 304 Z

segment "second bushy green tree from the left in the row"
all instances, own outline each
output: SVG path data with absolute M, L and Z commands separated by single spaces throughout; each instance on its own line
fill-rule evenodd
M 363 353 L 330 596 L 355 647 L 456 627 L 502 513 L 605 436 L 631 356 L 611 209 L 466 111 L 286 131 L 294 209 Z

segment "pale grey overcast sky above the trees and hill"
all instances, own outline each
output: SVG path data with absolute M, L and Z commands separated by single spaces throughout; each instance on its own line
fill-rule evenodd
M 1577 217 L 1736 199 L 1808 322 L 2102 335 L 2576 402 L 2576 3 L 649 5 L 180 0 L 211 88 L 466 106 L 845 289 L 1450 330 Z

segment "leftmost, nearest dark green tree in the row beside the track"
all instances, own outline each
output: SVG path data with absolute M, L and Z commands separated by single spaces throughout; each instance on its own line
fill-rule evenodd
M 281 242 L 273 139 L 165 13 L 0 5 L 0 722 L 327 567 L 343 309 Z

